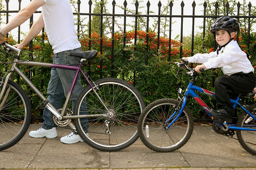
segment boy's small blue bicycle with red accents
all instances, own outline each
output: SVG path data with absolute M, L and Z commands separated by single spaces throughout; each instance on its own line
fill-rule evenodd
M 239 95 L 237 99 L 230 99 L 234 108 L 241 108 L 242 112 L 238 117 L 237 124 L 227 124 L 215 120 L 210 108 L 199 97 L 197 92 L 215 97 L 215 93 L 194 85 L 198 75 L 194 69 L 188 66 L 188 62 L 178 63 L 178 73 L 185 67 L 192 78 L 182 95 L 178 90 L 178 99 L 158 99 L 150 103 L 141 113 L 138 124 L 138 131 L 141 141 L 145 146 L 157 152 L 171 152 L 178 150 L 190 139 L 194 119 L 187 104 L 188 97 L 192 97 L 213 120 L 213 130 L 216 133 L 233 137 L 236 131 L 240 145 L 251 154 L 256 154 L 256 103 L 252 105 L 240 104 L 242 97 L 253 97 L 255 92 Z M 203 70 L 201 70 L 203 71 Z M 177 75 L 178 75 L 177 73 Z M 247 108 L 247 109 L 246 109 Z

